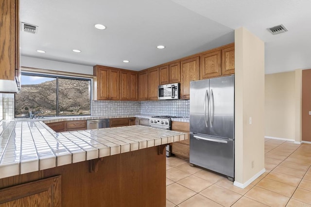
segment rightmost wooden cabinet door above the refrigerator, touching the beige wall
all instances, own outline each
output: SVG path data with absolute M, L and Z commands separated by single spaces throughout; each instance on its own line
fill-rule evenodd
M 222 49 L 222 75 L 234 74 L 234 44 Z

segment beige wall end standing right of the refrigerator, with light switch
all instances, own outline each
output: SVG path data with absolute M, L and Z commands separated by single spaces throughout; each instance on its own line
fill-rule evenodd
M 239 28 L 235 30 L 235 181 L 245 184 L 263 169 L 264 42 Z

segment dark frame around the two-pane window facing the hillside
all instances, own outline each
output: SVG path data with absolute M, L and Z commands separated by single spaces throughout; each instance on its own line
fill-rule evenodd
M 59 115 L 58 112 L 58 78 L 61 79 L 71 79 L 71 80 L 87 80 L 90 81 L 90 101 L 89 101 L 89 114 L 79 114 L 79 116 L 91 116 L 92 115 L 92 98 L 93 98 L 93 79 L 92 78 L 85 78 L 85 77 L 76 77 L 76 76 L 67 76 L 67 75 L 57 75 L 57 74 L 48 74 L 48 73 L 37 73 L 37 72 L 23 72 L 21 71 L 21 76 L 38 76 L 38 77 L 46 77 L 46 78 L 55 78 L 56 79 L 56 115 L 50 115 L 46 117 L 58 117 L 58 116 L 77 116 L 76 114 L 69 114 L 69 115 Z M 22 83 L 21 83 L 22 87 Z M 15 114 L 15 107 L 16 107 L 16 95 L 14 96 L 14 117 L 15 118 L 29 118 L 29 114 L 27 116 L 16 116 Z

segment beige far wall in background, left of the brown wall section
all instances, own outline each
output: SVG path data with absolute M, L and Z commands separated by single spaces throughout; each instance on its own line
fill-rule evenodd
M 264 135 L 294 140 L 295 71 L 265 75 Z

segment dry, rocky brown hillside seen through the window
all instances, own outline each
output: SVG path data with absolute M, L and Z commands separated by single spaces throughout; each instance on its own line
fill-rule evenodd
M 89 81 L 59 79 L 59 115 L 90 114 Z M 22 85 L 15 96 L 15 114 L 24 116 L 30 110 L 56 115 L 56 80 Z

